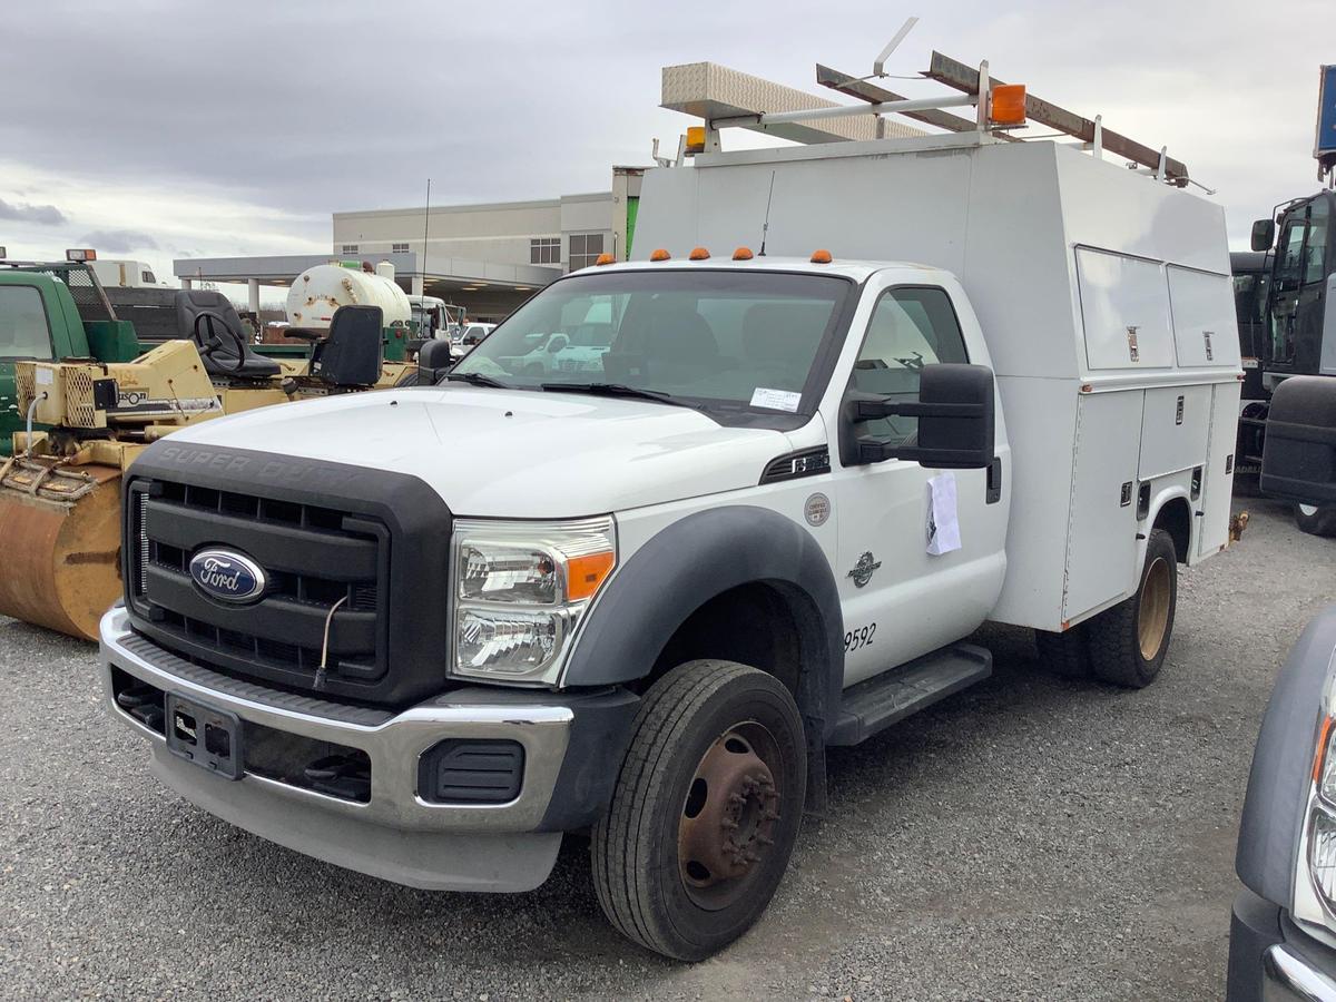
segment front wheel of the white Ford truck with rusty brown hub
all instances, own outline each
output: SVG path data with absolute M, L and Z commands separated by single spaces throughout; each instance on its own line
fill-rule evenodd
M 701 961 L 745 933 L 798 839 L 807 745 L 778 679 L 688 661 L 640 707 L 612 803 L 593 830 L 595 891 L 617 930 Z

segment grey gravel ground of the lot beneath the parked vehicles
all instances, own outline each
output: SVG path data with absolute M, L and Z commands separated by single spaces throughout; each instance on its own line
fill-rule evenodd
M 830 760 L 762 923 L 671 963 L 604 925 L 588 843 L 517 896 L 413 891 L 306 859 L 159 788 L 91 647 L 0 619 L 0 994 L 155 998 L 1214 999 L 1233 846 L 1272 679 L 1336 600 L 1336 541 L 1249 500 L 1181 580 L 1144 692 L 993 679 Z

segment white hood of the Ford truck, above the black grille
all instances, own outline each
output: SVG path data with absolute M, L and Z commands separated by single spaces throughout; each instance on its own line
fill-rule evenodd
M 755 486 L 782 432 L 574 393 L 413 387 L 215 418 L 172 441 L 413 473 L 456 516 L 568 518 Z

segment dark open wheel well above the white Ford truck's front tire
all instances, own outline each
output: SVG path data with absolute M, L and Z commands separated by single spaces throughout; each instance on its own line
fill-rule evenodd
M 679 664 L 712 657 L 774 675 L 802 705 L 800 628 L 814 616 L 806 597 L 782 582 L 752 581 L 729 588 L 677 627 L 659 652 L 653 671 L 635 688 L 643 692 Z

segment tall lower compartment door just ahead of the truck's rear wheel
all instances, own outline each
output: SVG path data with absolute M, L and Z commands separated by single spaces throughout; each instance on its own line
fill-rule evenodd
M 1136 584 L 1142 398 L 1144 390 L 1094 393 L 1077 406 L 1065 620 L 1125 597 Z

